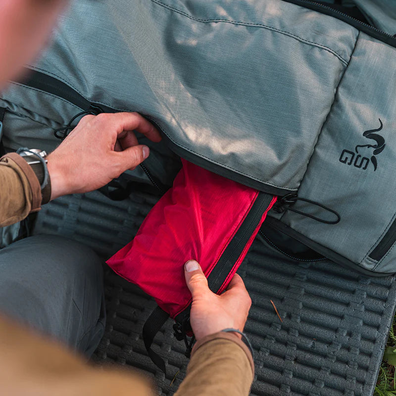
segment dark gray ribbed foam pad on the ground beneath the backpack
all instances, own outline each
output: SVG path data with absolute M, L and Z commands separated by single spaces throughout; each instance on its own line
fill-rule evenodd
M 59 198 L 43 207 L 34 233 L 76 239 L 106 258 L 131 240 L 157 199 L 136 193 L 113 202 L 97 192 Z M 395 311 L 393 277 L 366 278 L 329 260 L 296 262 L 259 238 L 239 273 L 252 299 L 246 325 L 256 366 L 252 395 L 373 393 Z M 141 337 L 154 301 L 109 269 L 105 295 L 106 332 L 94 360 L 136 367 L 155 377 L 159 393 L 172 395 L 188 363 L 173 322 L 153 345 L 165 358 L 165 377 Z

